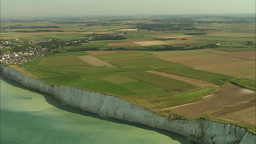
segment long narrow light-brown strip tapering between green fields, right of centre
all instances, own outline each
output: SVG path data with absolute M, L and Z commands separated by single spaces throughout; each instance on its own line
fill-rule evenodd
M 155 70 L 148 70 L 146 72 L 150 72 L 150 73 L 154 73 L 154 74 L 158 74 L 158 75 L 161 75 L 161 76 L 166 76 L 168 78 L 173 78 L 175 80 L 181 80 L 183 82 L 187 82 L 189 84 L 193 84 L 194 86 L 211 86 L 211 87 L 218 87 L 217 85 L 215 84 L 212 84 L 210 82 L 205 82 L 205 81 L 202 81 L 202 80 L 197 80 L 197 79 L 194 79 L 194 78 L 187 78 L 185 76 L 178 76 L 178 75 L 174 75 L 174 74 L 168 74 L 168 73 L 165 73 L 165 72 L 158 72 L 158 71 L 155 71 Z

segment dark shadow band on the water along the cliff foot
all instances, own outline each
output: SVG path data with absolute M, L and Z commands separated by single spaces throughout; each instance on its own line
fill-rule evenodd
M 150 128 L 148 126 L 144 126 L 142 124 L 134 124 L 134 123 L 131 123 L 131 122 L 126 122 L 126 121 L 121 121 L 121 120 L 116 120 L 116 119 L 112 119 L 112 118 L 105 118 L 105 117 L 102 117 L 102 116 L 99 116 L 97 114 L 93 114 L 93 113 L 90 113 L 90 112 L 85 112 L 83 110 L 80 110 L 78 108 L 74 108 L 72 106 L 68 106 L 68 105 L 65 105 L 65 104 L 62 104 L 59 100 L 57 100 L 56 98 L 54 98 L 54 96 L 50 95 L 50 94 L 46 94 L 44 92 L 39 92 L 37 90 L 33 90 L 31 88 L 26 88 L 24 86 L 22 86 L 21 84 L 18 84 L 17 82 L 14 82 L 4 76 L 2 76 L 2 74 L 0 75 L 0 78 L 1 80 L 3 80 L 4 82 L 14 86 L 14 87 L 17 87 L 17 88 L 22 88 L 24 90 L 28 90 L 30 92 L 34 92 L 34 93 L 37 93 L 37 94 L 40 94 L 42 96 L 44 96 L 46 102 L 48 102 L 48 104 L 60 109 L 60 110 L 64 110 L 66 112 L 72 112 L 72 113 L 76 113 L 76 114 L 80 114 L 82 116 L 90 116 L 92 118 L 97 118 L 97 119 L 100 119 L 100 120 L 105 120 L 105 121 L 108 121 L 108 122 L 114 122 L 116 124 L 126 124 L 126 125 L 129 125 L 129 126 L 135 126 L 137 128 L 142 128 L 144 130 L 150 130 L 150 131 L 155 131 L 155 132 L 158 132 L 160 134 L 163 134 L 163 135 L 166 135 L 168 137 L 170 137 L 172 140 L 177 140 L 179 141 L 179 138 L 177 138 L 176 135 L 179 135 L 179 134 L 176 134 L 176 133 L 173 133 L 173 132 L 169 132 L 169 131 L 166 131 L 166 130 L 160 130 L 160 129 L 156 129 L 156 128 Z M 182 135 L 179 135 L 179 136 L 182 136 Z

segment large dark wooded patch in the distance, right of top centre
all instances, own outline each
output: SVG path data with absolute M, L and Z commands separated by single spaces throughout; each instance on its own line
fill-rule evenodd
M 197 28 L 193 26 L 192 23 L 177 23 L 177 24 L 137 24 L 134 28 L 144 29 L 144 30 L 196 30 Z

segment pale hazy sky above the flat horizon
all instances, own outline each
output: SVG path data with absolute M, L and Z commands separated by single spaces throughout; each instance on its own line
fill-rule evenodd
M 255 0 L 0 0 L 1 17 L 255 13 Z

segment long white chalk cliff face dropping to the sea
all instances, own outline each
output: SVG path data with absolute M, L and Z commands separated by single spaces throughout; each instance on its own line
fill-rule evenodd
M 155 112 L 141 108 L 116 96 L 91 92 L 75 87 L 52 86 L 30 76 L 25 76 L 16 69 L 0 66 L 1 74 L 41 92 L 53 95 L 62 103 L 81 110 L 99 114 L 100 116 L 126 120 L 175 132 L 190 140 L 207 144 L 255 144 L 256 136 L 245 128 L 235 125 L 212 122 L 210 120 L 170 120 Z

